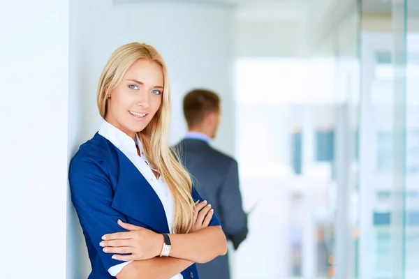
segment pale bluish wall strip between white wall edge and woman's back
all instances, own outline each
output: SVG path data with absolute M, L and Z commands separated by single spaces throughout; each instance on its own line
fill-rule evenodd
M 112 0 L 77 0 L 70 6 L 68 95 L 68 163 L 80 144 L 98 130 L 101 116 L 96 87 L 112 52 L 110 15 Z M 68 190 L 68 197 L 70 191 Z M 71 199 L 67 202 L 67 279 L 87 278 L 91 271 L 87 248 Z

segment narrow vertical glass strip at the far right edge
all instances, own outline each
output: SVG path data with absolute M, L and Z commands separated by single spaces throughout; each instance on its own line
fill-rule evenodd
M 419 278 L 419 1 L 405 0 L 404 273 Z

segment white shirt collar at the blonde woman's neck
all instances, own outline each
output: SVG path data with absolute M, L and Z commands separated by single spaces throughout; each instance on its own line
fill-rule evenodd
M 126 135 L 126 133 L 122 132 L 122 130 L 119 130 L 108 121 L 102 121 L 98 133 L 105 137 L 106 140 L 112 142 L 112 144 L 117 146 L 121 151 L 124 150 L 130 153 L 137 153 L 137 147 L 135 145 L 138 145 L 140 153 L 142 153 L 142 144 L 140 139 L 138 139 L 138 135 L 135 135 L 135 139 L 133 140 L 132 137 Z

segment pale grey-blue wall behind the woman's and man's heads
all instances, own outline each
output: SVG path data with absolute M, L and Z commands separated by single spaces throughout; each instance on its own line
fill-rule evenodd
M 186 132 L 182 98 L 194 87 L 221 96 L 223 118 L 214 146 L 234 153 L 233 8 L 217 3 L 156 1 L 119 4 L 112 13 L 113 48 L 138 41 L 161 52 L 172 89 L 170 142 Z

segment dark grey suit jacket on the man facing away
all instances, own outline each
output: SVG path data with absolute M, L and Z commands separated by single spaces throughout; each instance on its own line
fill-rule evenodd
M 242 209 L 237 161 L 203 140 L 186 139 L 176 146 L 193 185 L 211 204 L 223 231 L 235 249 L 247 236 L 247 215 Z M 229 279 L 228 255 L 197 264 L 200 279 Z

